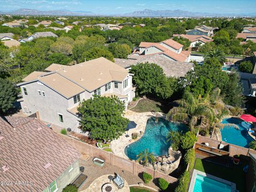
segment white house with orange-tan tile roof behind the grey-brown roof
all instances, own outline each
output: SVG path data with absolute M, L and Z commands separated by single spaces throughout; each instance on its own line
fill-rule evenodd
M 138 56 L 159 54 L 171 61 L 189 62 L 190 51 L 182 51 L 183 45 L 173 41 L 173 39 L 166 39 L 160 43 L 141 42 L 139 50 L 135 50 L 129 58 L 138 59 Z

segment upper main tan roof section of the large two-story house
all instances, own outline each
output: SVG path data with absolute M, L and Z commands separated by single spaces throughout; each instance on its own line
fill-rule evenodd
M 111 81 L 122 82 L 128 70 L 101 57 L 59 70 L 58 73 L 92 92 Z

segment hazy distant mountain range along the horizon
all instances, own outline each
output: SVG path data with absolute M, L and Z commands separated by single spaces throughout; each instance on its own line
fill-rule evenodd
M 69 10 L 52 10 L 52 11 L 39 11 L 32 9 L 18 9 L 12 11 L 0 11 L 0 14 L 13 14 L 13 15 L 67 15 L 67 16 L 95 16 L 106 15 L 100 13 L 93 13 L 90 11 L 69 11 Z M 107 14 L 109 16 L 121 17 L 256 17 L 256 13 L 200 13 L 189 12 L 182 10 L 149 10 L 134 11 L 132 13 L 122 14 Z

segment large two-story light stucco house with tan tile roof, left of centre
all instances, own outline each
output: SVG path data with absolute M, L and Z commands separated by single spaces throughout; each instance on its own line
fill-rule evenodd
M 73 66 L 52 64 L 48 72 L 34 71 L 18 84 L 26 115 L 36 113 L 46 122 L 81 132 L 77 107 L 93 95 L 118 97 L 128 103 L 135 97 L 132 74 L 114 62 L 98 58 Z

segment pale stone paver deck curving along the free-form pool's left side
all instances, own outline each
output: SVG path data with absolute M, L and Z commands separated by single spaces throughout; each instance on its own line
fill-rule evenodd
M 113 153 L 119 157 L 129 159 L 125 155 L 124 149 L 127 145 L 134 142 L 134 140 L 132 140 L 132 133 L 140 133 L 140 131 L 144 133 L 148 118 L 156 115 L 158 117 L 165 118 L 165 114 L 154 112 L 154 111 L 146 112 L 146 113 L 137 113 L 131 110 L 126 110 L 124 117 L 126 117 L 130 121 L 134 121 L 137 124 L 137 126 L 134 129 L 131 129 L 128 131 L 128 134 L 130 135 L 130 137 L 125 137 L 125 135 L 127 134 L 127 131 L 125 131 L 125 133 L 121 135 L 121 137 L 111 141 L 111 150 L 113 151 Z

